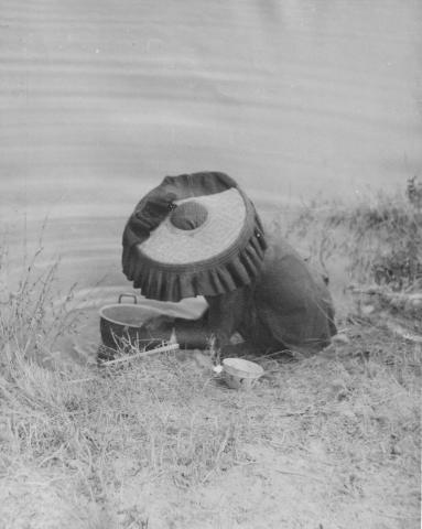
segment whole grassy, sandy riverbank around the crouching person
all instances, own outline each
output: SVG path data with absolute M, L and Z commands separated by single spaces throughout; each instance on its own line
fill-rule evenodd
M 421 204 L 315 201 L 266 223 L 328 273 L 340 334 L 259 358 L 250 393 L 206 352 L 66 360 L 59 268 L 28 262 L 2 292 L 0 528 L 420 527 Z

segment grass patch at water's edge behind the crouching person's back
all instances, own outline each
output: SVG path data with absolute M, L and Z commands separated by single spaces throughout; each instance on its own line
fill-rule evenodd
M 422 209 L 420 201 L 409 198 L 411 183 L 422 196 L 422 184 L 409 181 L 404 192 L 380 191 L 351 206 L 315 199 L 272 219 L 270 229 L 292 239 L 328 273 L 340 262 L 349 281 L 422 289 Z

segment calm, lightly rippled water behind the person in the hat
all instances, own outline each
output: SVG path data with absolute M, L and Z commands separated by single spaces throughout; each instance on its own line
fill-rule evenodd
M 402 185 L 422 168 L 421 35 L 420 0 L 1 0 L 12 260 L 48 215 L 44 260 L 100 304 L 166 174 L 225 171 L 262 208 Z

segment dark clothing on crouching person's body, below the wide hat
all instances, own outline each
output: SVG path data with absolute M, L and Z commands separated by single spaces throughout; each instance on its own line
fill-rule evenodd
M 284 240 L 270 245 L 255 283 L 206 300 L 209 330 L 221 347 L 238 332 L 257 354 L 310 354 L 328 345 L 337 332 L 323 278 Z

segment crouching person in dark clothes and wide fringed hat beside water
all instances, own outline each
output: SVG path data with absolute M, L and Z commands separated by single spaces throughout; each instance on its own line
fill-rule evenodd
M 223 349 L 237 332 L 256 354 L 307 354 L 336 333 L 323 278 L 288 242 L 268 247 L 253 204 L 224 173 L 167 176 L 142 198 L 125 229 L 122 264 L 147 298 L 204 295 L 204 336 Z

